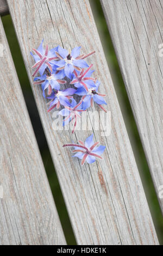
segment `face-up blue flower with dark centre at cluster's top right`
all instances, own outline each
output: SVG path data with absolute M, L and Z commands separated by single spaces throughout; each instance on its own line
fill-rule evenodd
M 65 76 L 71 79 L 74 69 L 80 71 L 80 68 L 87 68 L 89 65 L 83 60 L 87 56 L 90 56 L 92 53 L 87 54 L 86 56 L 79 55 L 81 47 L 75 47 L 73 50 L 68 52 L 66 49 L 58 46 L 58 51 L 56 51 L 57 57 L 60 59 L 58 62 L 55 62 L 55 65 L 58 66 L 58 70 L 64 69 Z

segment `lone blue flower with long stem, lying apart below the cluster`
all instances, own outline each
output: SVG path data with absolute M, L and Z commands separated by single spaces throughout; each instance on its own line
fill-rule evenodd
M 93 163 L 97 159 L 102 159 L 101 154 L 105 150 L 105 146 L 97 145 L 99 142 L 94 143 L 93 142 L 93 134 L 89 136 L 86 140 L 85 143 L 82 141 L 78 141 L 79 144 L 65 144 L 62 147 L 74 147 L 74 150 L 72 153 L 76 153 L 73 155 L 73 157 L 78 157 L 79 159 L 82 159 L 82 166 L 85 163 Z

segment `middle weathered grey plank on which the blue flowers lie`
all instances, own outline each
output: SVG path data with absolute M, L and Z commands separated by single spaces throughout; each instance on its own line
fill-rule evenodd
M 158 243 L 89 1 L 9 0 L 8 4 L 77 242 Z M 52 128 L 54 118 L 47 114 L 41 88 L 33 86 L 30 68 L 33 60 L 29 52 L 39 46 L 42 38 L 50 47 L 80 45 L 84 53 L 96 50 L 96 55 L 87 61 L 94 63 L 102 82 L 101 92 L 108 95 L 111 111 L 111 135 L 102 137 L 101 131 L 93 130 L 96 140 L 106 145 L 101 162 L 81 167 L 70 150 L 62 148 L 72 140 L 84 141 L 91 131 L 76 131 L 72 135 L 71 131 Z M 96 111 L 99 112 L 98 107 Z M 103 127 L 102 121 L 99 123 Z M 99 181 L 100 174 L 105 185 Z

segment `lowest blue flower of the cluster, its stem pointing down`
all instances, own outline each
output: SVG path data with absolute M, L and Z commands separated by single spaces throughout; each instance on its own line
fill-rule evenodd
M 74 127 L 72 133 L 74 133 L 74 130 L 76 129 L 77 119 L 81 118 L 80 112 L 85 111 L 82 109 L 81 105 L 82 101 L 77 104 L 76 100 L 72 99 L 71 107 L 65 106 L 65 108 L 58 113 L 59 115 L 66 117 L 63 121 L 63 126 L 74 120 Z

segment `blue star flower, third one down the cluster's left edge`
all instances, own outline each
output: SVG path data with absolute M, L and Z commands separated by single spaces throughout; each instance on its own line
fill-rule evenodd
M 66 90 L 57 90 L 57 92 L 53 92 L 51 96 L 48 96 L 47 99 L 51 100 L 48 104 L 50 108 L 48 109 L 48 112 L 50 112 L 54 107 L 59 108 L 60 105 L 62 106 L 69 106 L 71 107 L 70 99 L 72 99 L 72 96 L 76 92 L 76 89 L 73 88 L 67 88 Z

